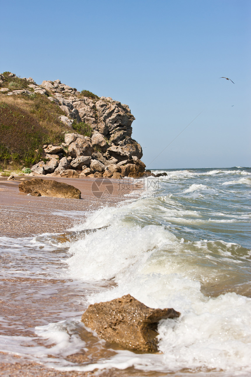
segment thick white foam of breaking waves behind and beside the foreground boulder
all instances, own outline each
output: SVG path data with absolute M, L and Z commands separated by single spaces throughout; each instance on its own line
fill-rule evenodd
M 231 371 L 243 367 L 248 370 L 251 299 L 235 293 L 217 298 L 205 297 L 199 279 L 203 280 L 211 267 L 202 268 L 195 263 L 196 258 L 205 257 L 203 253 L 196 254 L 203 250 L 202 244 L 193 243 L 191 249 L 188 244 L 180 244 L 164 227 L 147 225 L 142 228 L 126 221 L 135 206 L 142 203 L 137 201 L 125 207 L 107 208 L 100 213 L 99 226 L 109 227 L 71 243 L 65 272 L 72 278 L 83 280 L 114 277 L 116 287 L 90 295 L 90 303 L 130 293 L 150 307 L 173 307 L 181 312 L 181 317 L 163 320 L 159 325 L 163 354 L 149 357 L 119 351 L 102 363 L 78 366 L 78 370 L 102 369 L 104 363 L 106 368 L 124 369 L 133 365 L 138 369 L 161 372 L 178 371 L 187 365 L 192 370 L 216 368 Z M 92 221 L 97 223 L 97 219 Z M 207 242 L 204 245 L 207 247 Z M 209 249 L 207 251 L 215 269 L 214 260 L 219 256 L 210 254 Z M 226 263 L 236 263 L 231 262 L 231 252 L 224 249 L 224 243 L 221 253 Z M 211 279 L 217 279 L 216 276 Z

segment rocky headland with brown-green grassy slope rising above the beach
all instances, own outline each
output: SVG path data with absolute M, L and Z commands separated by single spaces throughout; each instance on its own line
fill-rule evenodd
M 60 80 L 37 85 L 11 72 L 0 75 L 0 163 L 5 168 L 19 164 L 42 174 L 77 170 L 79 175 L 82 169 L 82 175 L 140 176 L 145 164 L 140 144 L 131 138 L 134 119 L 128 105 L 78 92 Z

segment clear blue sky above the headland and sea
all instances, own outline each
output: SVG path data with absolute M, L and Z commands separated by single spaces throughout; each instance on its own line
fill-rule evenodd
M 251 166 L 250 0 L 0 4 L 0 72 L 128 104 L 148 168 Z

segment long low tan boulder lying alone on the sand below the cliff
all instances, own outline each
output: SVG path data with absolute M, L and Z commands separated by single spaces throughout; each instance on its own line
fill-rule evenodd
M 41 196 L 53 198 L 75 198 L 81 199 L 81 191 L 64 182 L 51 181 L 50 179 L 33 178 L 19 185 L 19 191 L 31 194 L 37 193 Z

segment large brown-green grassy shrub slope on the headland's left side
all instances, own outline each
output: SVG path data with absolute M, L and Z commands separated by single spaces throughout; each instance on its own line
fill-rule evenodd
M 30 167 L 41 159 L 43 144 L 61 143 L 66 128 L 59 115 L 65 113 L 44 95 L 0 95 L 0 165 Z

